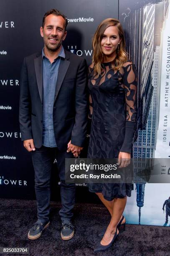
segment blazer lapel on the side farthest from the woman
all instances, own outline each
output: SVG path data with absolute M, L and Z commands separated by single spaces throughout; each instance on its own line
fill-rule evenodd
M 42 66 L 42 54 L 38 58 L 34 59 L 34 66 L 36 71 L 36 79 L 38 85 L 38 92 L 41 102 L 43 102 L 43 66 Z

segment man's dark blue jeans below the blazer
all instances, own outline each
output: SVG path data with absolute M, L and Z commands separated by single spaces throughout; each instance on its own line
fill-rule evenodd
M 35 171 L 35 190 L 37 200 L 37 217 L 42 222 L 49 220 L 50 212 L 50 178 L 51 168 L 54 161 L 57 160 L 58 174 L 61 180 L 61 204 L 59 211 L 61 220 L 68 223 L 73 216 L 73 208 L 75 203 L 75 184 L 66 184 L 65 179 L 65 158 L 74 157 L 71 152 L 59 151 L 58 148 L 48 148 L 42 146 L 32 151 L 32 160 Z M 56 182 L 57 184 L 57 182 Z

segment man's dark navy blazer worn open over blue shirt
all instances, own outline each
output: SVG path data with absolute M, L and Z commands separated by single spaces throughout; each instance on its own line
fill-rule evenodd
M 65 51 L 58 69 L 53 106 L 54 135 L 59 150 L 71 140 L 83 146 L 87 124 L 87 69 L 85 59 Z M 32 139 L 42 146 L 43 60 L 42 52 L 25 57 L 20 77 L 20 132 L 22 141 Z

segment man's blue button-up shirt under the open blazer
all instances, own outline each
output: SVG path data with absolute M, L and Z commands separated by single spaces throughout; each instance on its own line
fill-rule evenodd
M 51 62 L 47 59 L 42 51 L 43 56 L 43 146 L 57 147 L 56 139 L 54 136 L 53 127 L 53 104 L 54 95 L 56 92 L 56 82 L 58 77 L 58 68 L 60 65 L 61 57 L 65 58 L 63 47 L 61 48 L 58 57 Z

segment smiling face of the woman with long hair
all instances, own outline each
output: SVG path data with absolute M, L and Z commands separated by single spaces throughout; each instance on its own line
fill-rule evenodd
M 108 57 L 115 56 L 118 44 L 121 42 L 117 26 L 109 26 L 101 39 L 101 51 Z

